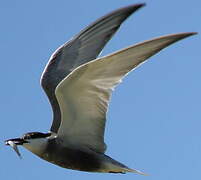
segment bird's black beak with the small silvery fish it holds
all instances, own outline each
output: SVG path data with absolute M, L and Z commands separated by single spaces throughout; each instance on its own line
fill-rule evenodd
M 14 151 L 17 153 L 20 159 L 22 159 L 22 156 L 19 152 L 17 145 L 23 145 L 24 143 L 28 143 L 28 141 L 25 141 L 22 138 L 8 139 L 5 141 L 5 145 L 11 146 L 14 149 Z

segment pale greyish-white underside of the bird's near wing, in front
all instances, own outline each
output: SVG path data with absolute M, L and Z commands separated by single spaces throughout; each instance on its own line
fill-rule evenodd
M 76 68 L 56 88 L 62 117 L 57 134 L 63 144 L 104 152 L 106 112 L 115 86 L 147 58 L 193 34 L 173 34 L 145 41 Z

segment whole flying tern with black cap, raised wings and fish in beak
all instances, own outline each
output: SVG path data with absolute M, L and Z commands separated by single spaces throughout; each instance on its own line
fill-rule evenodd
M 19 157 L 18 146 L 23 146 L 66 169 L 146 175 L 105 154 L 104 131 L 112 92 L 149 57 L 196 32 L 161 36 L 98 57 L 121 24 L 143 6 L 132 4 L 106 14 L 51 55 L 40 80 L 53 111 L 50 131 L 28 132 L 5 140 L 5 145 Z

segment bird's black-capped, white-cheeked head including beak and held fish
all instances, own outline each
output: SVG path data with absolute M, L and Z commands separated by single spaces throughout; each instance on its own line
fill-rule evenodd
M 22 145 L 32 153 L 40 156 L 47 145 L 48 139 L 55 137 L 53 133 L 29 132 L 21 138 L 6 140 L 5 145 L 11 146 L 19 157 L 21 157 L 21 154 L 17 148 L 18 145 Z

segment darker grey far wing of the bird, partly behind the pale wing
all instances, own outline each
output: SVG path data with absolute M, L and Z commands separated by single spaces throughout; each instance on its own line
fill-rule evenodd
M 105 15 L 58 48 L 50 57 L 41 76 L 41 85 L 53 109 L 52 132 L 57 132 L 61 122 L 60 108 L 55 97 L 57 85 L 75 68 L 95 59 L 121 23 L 143 5 L 127 6 Z

